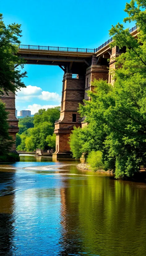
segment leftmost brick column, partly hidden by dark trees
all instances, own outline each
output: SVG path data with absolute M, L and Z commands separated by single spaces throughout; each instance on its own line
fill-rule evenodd
M 15 117 L 15 94 L 13 92 L 9 92 L 9 95 L 2 95 L 0 97 L 3 103 L 5 103 L 6 111 L 8 114 L 8 123 L 9 123 L 9 135 L 12 136 L 15 143 L 13 144 L 11 148 L 11 152 L 16 151 L 16 133 L 19 132 L 18 128 L 18 120 Z

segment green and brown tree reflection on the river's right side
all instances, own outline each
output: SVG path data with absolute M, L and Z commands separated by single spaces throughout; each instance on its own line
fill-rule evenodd
M 76 170 L 71 167 L 71 172 Z M 60 193 L 63 249 L 59 255 L 145 254 L 144 183 L 115 180 L 107 174 L 74 176 L 64 180 Z

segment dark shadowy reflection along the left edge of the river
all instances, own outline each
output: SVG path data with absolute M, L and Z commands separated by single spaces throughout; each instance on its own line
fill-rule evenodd
M 14 255 L 15 171 L 0 171 L 0 255 Z

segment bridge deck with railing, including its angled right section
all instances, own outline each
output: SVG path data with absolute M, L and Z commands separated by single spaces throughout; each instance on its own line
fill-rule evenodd
M 129 30 L 132 36 L 137 36 L 136 26 Z M 69 47 L 53 47 L 53 46 L 33 46 L 19 45 L 18 55 L 24 58 L 27 64 L 42 64 L 42 65 L 58 65 L 67 67 L 68 65 L 82 63 L 86 68 L 90 65 L 92 56 L 99 57 L 110 50 L 110 42 L 112 38 L 96 49 L 88 48 L 69 48 Z M 80 65 L 81 67 L 81 65 Z

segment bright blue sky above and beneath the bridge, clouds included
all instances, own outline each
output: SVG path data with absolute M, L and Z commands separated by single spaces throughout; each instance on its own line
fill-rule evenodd
M 126 0 L 105 1 L 1 1 L 5 24 L 22 24 L 22 44 L 96 48 L 109 38 L 111 25 L 126 16 Z M 132 27 L 134 24 L 125 24 Z M 58 66 L 25 65 L 27 89 L 16 96 L 16 109 L 59 105 L 63 71 Z

